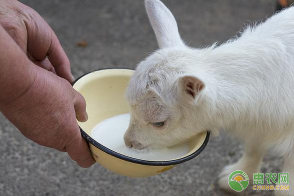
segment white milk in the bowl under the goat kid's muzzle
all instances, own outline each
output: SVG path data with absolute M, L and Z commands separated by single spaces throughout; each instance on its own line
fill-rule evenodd
M 165 161 L 177 159 L 188 153 L 188 144 L 165 147 L 163 149 L 138 150 L 124 144 L 123 134 L 128 128 L 130 114 L 121 114 L 98 123 L 91 132 L 91 137 L 98 143 L 126 156 L 149 160 Z

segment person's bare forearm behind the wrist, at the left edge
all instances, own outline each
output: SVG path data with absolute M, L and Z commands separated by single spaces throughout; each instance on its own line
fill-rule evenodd
M 34 65 L 0 25 L 0 107 L 24 94 L 35 76 Z

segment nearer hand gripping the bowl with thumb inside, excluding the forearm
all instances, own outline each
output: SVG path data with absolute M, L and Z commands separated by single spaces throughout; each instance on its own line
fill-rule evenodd
M 88 118 L 84 98 L 65 79 L 37 66 L 34 69 L 30 88 L 1 105 L 1 112 L 28 139 L 66 151 L 79 166 L 90 167 L 95 161 L 76 122 Z

